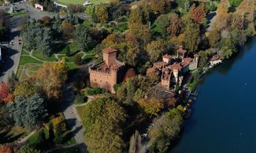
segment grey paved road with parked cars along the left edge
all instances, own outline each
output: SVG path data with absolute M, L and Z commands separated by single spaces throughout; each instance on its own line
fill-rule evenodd
M 20 62 L 20 53 L 22 46 L 19 44 L 19 29 L 18 23 L 22 20 L 22 16 L 15 16 L 12 17 L 10 22 L 11 26 L 11 33 L 9 35 L 10 42 L 13 42 L 13 46 L 10 46 L 10 48 L 7 51 L 7 57 L 4 57 L 4 63 L 1 67 L 0 72 L 0 81 L 1 82 L 7 82 L 9 75 L 11 75 L 13 72 L 16 73 L 17 68 L 19 66 Z

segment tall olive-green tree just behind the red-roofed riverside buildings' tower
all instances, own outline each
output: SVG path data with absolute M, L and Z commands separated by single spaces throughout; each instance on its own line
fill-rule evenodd
M 199 25 L 191 20 L 188 20 L 187 26 L 184 31 L 184 42 L 189 52 L 193 53 L 198 49 L 200 42 L 200 28 Z

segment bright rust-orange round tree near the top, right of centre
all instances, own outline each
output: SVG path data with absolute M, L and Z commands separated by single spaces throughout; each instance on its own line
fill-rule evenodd
M 196 7 L 194 3 L 191 5 L 191 9 L 189 9 L 189 16 L 196 22 L 201 23 L 202 20 L 206 17 L 206 7 L 204 5 L 199 5 Z

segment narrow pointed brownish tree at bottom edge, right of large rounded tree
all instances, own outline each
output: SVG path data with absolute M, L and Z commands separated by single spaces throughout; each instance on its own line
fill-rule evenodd
M 130 147 L 129 153 L 143 153 L 146 152 L 142 148 L 141 136 L 139 132 L 136 130 L 135 133 L 130 138 Z

